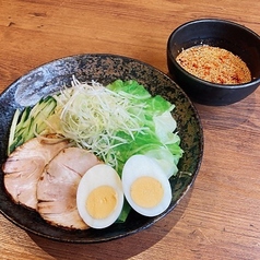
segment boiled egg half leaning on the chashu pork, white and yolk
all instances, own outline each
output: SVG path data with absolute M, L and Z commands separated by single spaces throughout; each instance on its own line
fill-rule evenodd
M 83 175 L 76 191 L 76 206 L 88 226 L 105 228 L 111 225 L 122 205 L 121 179 L 113 167 L 98 164 Z

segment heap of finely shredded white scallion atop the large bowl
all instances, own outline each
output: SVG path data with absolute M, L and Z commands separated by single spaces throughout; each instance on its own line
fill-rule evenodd
M 55 114 L 60 119 L 57 132 L 111 166 L 117 164 L 113 147 L 127 142 L 117 133 L 121 131 L 133 139 L 135 132 L 145 130 L 144 104 L 137 104 L 131 95 L 115 93 L 95 81 L 81 83 L 73 78 L 72 86 L 54 97 L 57 101 Z

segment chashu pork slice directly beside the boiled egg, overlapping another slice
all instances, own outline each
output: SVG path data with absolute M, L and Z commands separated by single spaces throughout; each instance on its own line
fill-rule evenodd
M 62 150 L 45 168 L 37 186 L 37 211 L 48 223 L 86 229 L 76 209 L 76 189 L 87 169 L 102 163 L 79 147 Z

